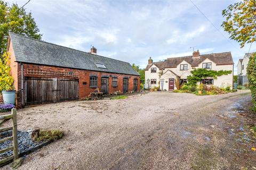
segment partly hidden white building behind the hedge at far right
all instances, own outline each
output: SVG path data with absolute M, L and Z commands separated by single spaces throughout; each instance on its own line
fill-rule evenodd
M 243 59 L 239 59 L 237 63 L 237 83 L 240 85 L 244 85 L 245 83 L 248 82 L 247 79 L 247 65 L 249 63 L 249 59 L 253 53 L 245 53 Z

